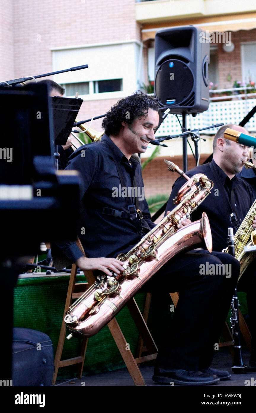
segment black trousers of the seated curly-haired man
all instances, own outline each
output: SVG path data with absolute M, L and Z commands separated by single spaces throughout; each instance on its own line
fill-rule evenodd
M 211 264 L 225 264 L 228 273 L 202 274 L 202 264 L 206 271 Z M 173 257 L 142 287 L 141 291 L 154 294 L 179 292 L 173 319 L 158 347 L 159 367 L 198 371 L 210 366 L 239 271 L 239 262 L 229 254 L 193 250 Z

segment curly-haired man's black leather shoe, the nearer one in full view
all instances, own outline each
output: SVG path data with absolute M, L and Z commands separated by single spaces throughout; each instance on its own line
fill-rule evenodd
M 188 370 L 164 370 L 155 368 L 153 381 L 170 385 L 173 382 L 175 385 L 181 386 L 207 386 L 219 383 L 219 378 L 215 375 L 202 373 L 201 371 Z

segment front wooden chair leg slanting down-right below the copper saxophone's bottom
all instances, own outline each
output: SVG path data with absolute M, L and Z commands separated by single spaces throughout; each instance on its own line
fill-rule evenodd
M 123 357 L 123 361 L 126 363 L 126 367 L 128 368 L 128 371 L 133 379 L 135 386 L 146 386 L 144 378 L 140 373 L 140 369 L 137 366 L 133 354 L 130 350 L 126 350 L 126 339 L 123 336 L 123 333 L 121 331 L 121 328 L 119 327 L 119 324 L 116 321 L 116 318 L 113 318 L 113 320 L 111 320 L 108 323 L 108 327 L 121 353 L 121 356 Z

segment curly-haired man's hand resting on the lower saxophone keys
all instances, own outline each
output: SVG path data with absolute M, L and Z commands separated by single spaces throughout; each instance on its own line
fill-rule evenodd
M 112 275 L 108 268 L 116 274 L 120 274 L 120 271 L 124 271 L 121 261 L 115 258 L 87 258 L 82 256 L 76 261 L 76 264 L 83 271 L 100 270 L 107 275 Z

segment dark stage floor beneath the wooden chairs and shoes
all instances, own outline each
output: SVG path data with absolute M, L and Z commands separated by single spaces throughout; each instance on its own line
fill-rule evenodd
M 244 363 L 249 366 L 250 352 L 243 350 L 242 356 Z M 220 349 L 216 351 L 214 356 L 212 367 L 222 370 L 228 370 L 232 374 L 232 377 L 229 380 L 223 380 L 219 382 L 218 385 L 214 386 L 201 386 L 201 387 L 244 387 L 245 380 L 250 380 L 251 378 L 256 378 L 256 372 L 249 372 L 246 374 L 233 374 L 232 366 L 232 357 L 228 349 Z M 147 386 L 154 387 L 165 387 L 165 385 L 159 385 L 152 380 L 152 375 L 154 371 L 153 363 L 151 365 L 144 363 L 140 366 L 140 371 L 144 377 Z M 91 376 L 83 376 L 80 379 L 70 379 L 70 380 L 58 380 L 56 386 L 67 386 L 67 387 L 129 387 L 134 386 L 133 380 L 128 373 L 126 368 L 115 370 L 107 373 L 101 373 Z M 175 385 L 175 387 L 183 387 Z M 192 386 L 191 386 L 192 387 Z

